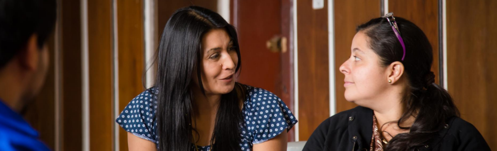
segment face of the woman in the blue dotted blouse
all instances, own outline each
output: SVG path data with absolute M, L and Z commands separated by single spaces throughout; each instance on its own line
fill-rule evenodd
M 235 86 L 238 56 L 228 33 L 224 29 L 210 30 L 202 37 L 201 49 L 200 75 L 205 93 L 231 92 Z M 198 84 L 198 80 L 194 81 Z

